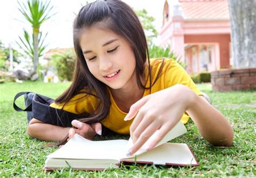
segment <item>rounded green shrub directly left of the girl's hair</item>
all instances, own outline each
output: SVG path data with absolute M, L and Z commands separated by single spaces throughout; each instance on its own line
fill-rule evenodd
M 71 81 L 75 70 L 75 52 L 69 50 L 62 54 L 53 54 L 51 58 L 53 59 L 59 79 Z

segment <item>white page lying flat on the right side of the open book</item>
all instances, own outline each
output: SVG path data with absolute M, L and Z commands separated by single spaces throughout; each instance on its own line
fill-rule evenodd
M 134 160 L 134 158 L 129 160 Z M 137 161 L 153 162 L 155 165 L 165 165 L 165 163 L 197 164 L 190 148 L 185 143 L 164 143 L 150 152 L 138 155 Z

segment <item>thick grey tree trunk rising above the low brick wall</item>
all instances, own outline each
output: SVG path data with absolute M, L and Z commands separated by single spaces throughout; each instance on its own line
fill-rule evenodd
M 256 67 L 256 0 L 229 0 L 235 69 Z

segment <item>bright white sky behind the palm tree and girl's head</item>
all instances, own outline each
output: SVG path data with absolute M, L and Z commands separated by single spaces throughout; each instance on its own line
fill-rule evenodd
M 158 31 L 160 30 L 165 0 L 123 1 L 129 4 L 133 9 L 146 9 L 150 16 L 156 18 L 153 24 Z M 19 2 L 26 1 L 19 0 Z M 89 0 L 88 2 L 93 1 Z M 52 0 L 50 3 L 55 6 L 53 12 L 56 12 L 56 15 L 46 21 L 41 27 L 43 32 L 48 32 L 46 39 L 48 50 L 72 47 L 73 19 L 75 19 L 75 14 L 82 8 L 82 5 L 86 4 L 86 0 Z M 18 36 L 22 36 L 23 29 L 31 30 L 30 25 L 25 22 L 21 12 L 18 11 L 17 0 L 0 1 L 0 25 L 0 40 L 2 40 L 5 45 L 11 43 L 14 47 L 17 46 L 15 41 L 18 40 Z M 155 43 L 158 44 L 159 39 L 157 39 Z

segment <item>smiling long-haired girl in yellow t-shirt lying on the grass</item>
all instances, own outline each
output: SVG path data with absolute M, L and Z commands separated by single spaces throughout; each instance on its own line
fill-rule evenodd
M 92 139 L 103 126 L 131 134 L 134 154 L 157 132 L 152 149 L 181 119 L 189 117 L 215 146 L 231 146 L 233 129 L 211 106 L 185 70 L 172 59 L 149 59 L 142 25 L 129 5 L 96 1 L 80 9 L 73 25 L 77 55 L 71 86 L 50 106 L 85 114 L 67 127 L 33 118 L 28 134 L 42 140 L 63 140 L 75 133 Z M 61 118 L 60 118 L 61 119 Z

